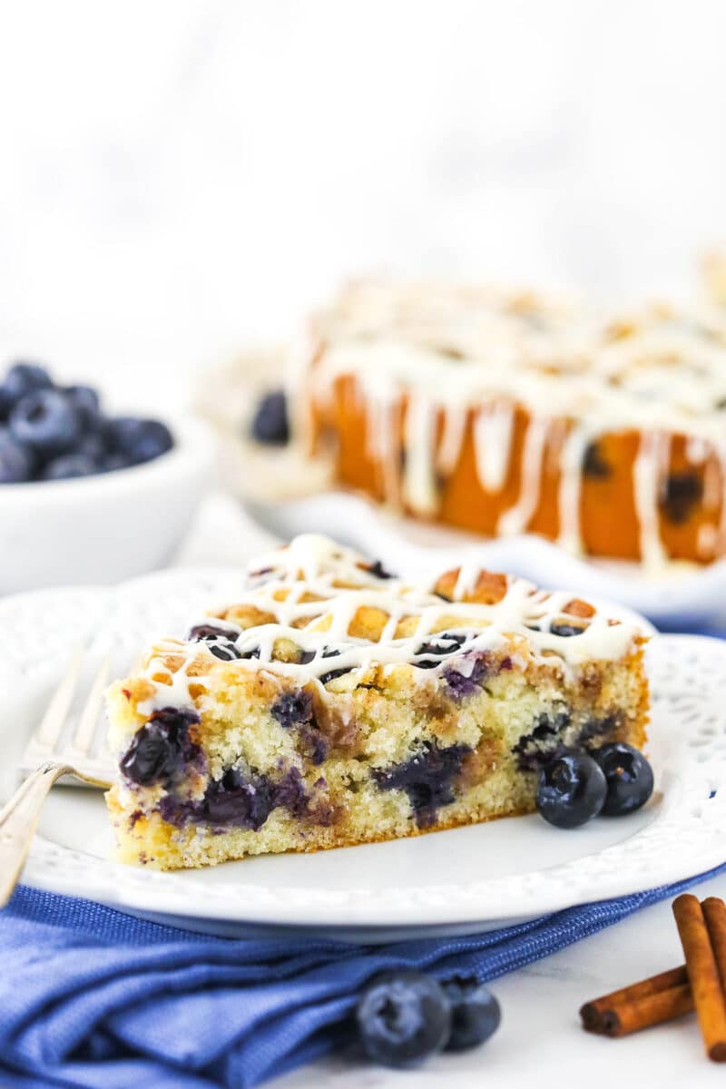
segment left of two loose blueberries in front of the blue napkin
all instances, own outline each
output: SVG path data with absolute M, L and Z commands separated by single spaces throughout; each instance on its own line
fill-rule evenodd
M 356 1021 L 362 1049 L 383 1066 L 416 1066 L 445 1048 L 452 1013 L 443 988 L 418 971 L 386 971 L 368 983 Z

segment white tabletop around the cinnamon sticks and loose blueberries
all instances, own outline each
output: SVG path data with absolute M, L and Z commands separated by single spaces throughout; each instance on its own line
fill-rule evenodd
M 697 890 L 726 897 L 726 877 Z M 481 1049 L 441 1055 L 401 1074 L 344 1056 L 272 1082 L 275 1089 L 642 1089 L 723 1086 L 724 1069 L 705 1057 L 694 1016 L 623 1040 L 590 1036 L 577 1012 L 588 999 L 682 964 L 668 903 L 656 904 L 554 956 L 492 982 L 502 1026 Z

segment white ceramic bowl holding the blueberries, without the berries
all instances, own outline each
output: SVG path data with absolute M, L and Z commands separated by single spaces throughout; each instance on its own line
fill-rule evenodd
M 214 440 L 170 421 L 175 445 L 128 469 L 0 485 L 0 594 L 115 583 L 168 563 L 207 488 Z

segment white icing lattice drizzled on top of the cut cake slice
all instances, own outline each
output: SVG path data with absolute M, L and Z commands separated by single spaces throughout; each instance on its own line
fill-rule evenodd
M 538 590 L 526 579 L 513 576 L 507 576 L 506 592 L 495 604 L 463 601 L 481 575 L 476 563 L 459 571 L 451 601 L 434 592 L 435 578 L 407 583 L 380 577 L 378 568 L 369 566 L 369 561 L 357 553 L 315 534 L 296 537 L 285 548 L 259 558 L 250 566 L 249 588 L 235 608 L 250 607 L 272 615 L 274 621 L 242 628 L 226 619 L 226 609 L 212 612 L 206 623 L 232 632 L 230 639 L 243 656 L 225 661 L 225 668 L 288 676 L 302 684 L 337 670 L 365 671 L 380 665 L 390 672 L 403 664 L 430 662 L 432 656 L 434 660 L 441 658 L 438 669 L 451 665 L 462 671 L 477 652 L 510 652 L 520 661 L 528 648 L 537 661 L 571 669 L 592 659 L 620 659 L 640 635 L 635 625 L 614 623 L 601 612 L 587 619 L 567 614 L 571 594 Z M 385 614 L 379 638 L 349 634 L 360 609 Z M 216 615 L 222 619 L 216 622 Z M 302 619 L 304 625 L 296 626 Z M 404 619 L 407 634 L 396 636 Z M 575 624 L 582 631 L 575 636 L 557 635 L 551 629 L 557 622 Z M 298 648 L 299 661 L 278 659 L 279 640 L 288 640 L 287 646 L 292 643 Z M 431 641 L 435 643 L 434 649 Z M 189 676 L 188 668 L 200 654 L 210 656 L 211 661 L 213 646 L 204 640 L 157 645 L 140 674 L 153 687 L 153 695 L 139 705 L 141 713 L 188 705 L 189 685 L 207 684 L 204 676 Z M 451 653 L 442 653 L 441 649 L 436 652 L 436 648 L 445 651 L 448 647 Z M 181 654 L 184 664 L 172 672 L 164 654 Z M 213 661 L 219 664 L 216 658 Z M 421 675 L 431 677 L 435 672 L 426 669 Z M 158 678 L 160 675 L 163 680 Z

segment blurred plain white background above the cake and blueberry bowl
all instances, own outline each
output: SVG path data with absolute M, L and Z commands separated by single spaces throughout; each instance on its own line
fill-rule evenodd
M 0 340 L 179 401 L 361 270 L 682 292 L 719 0 L 9 0 Z

